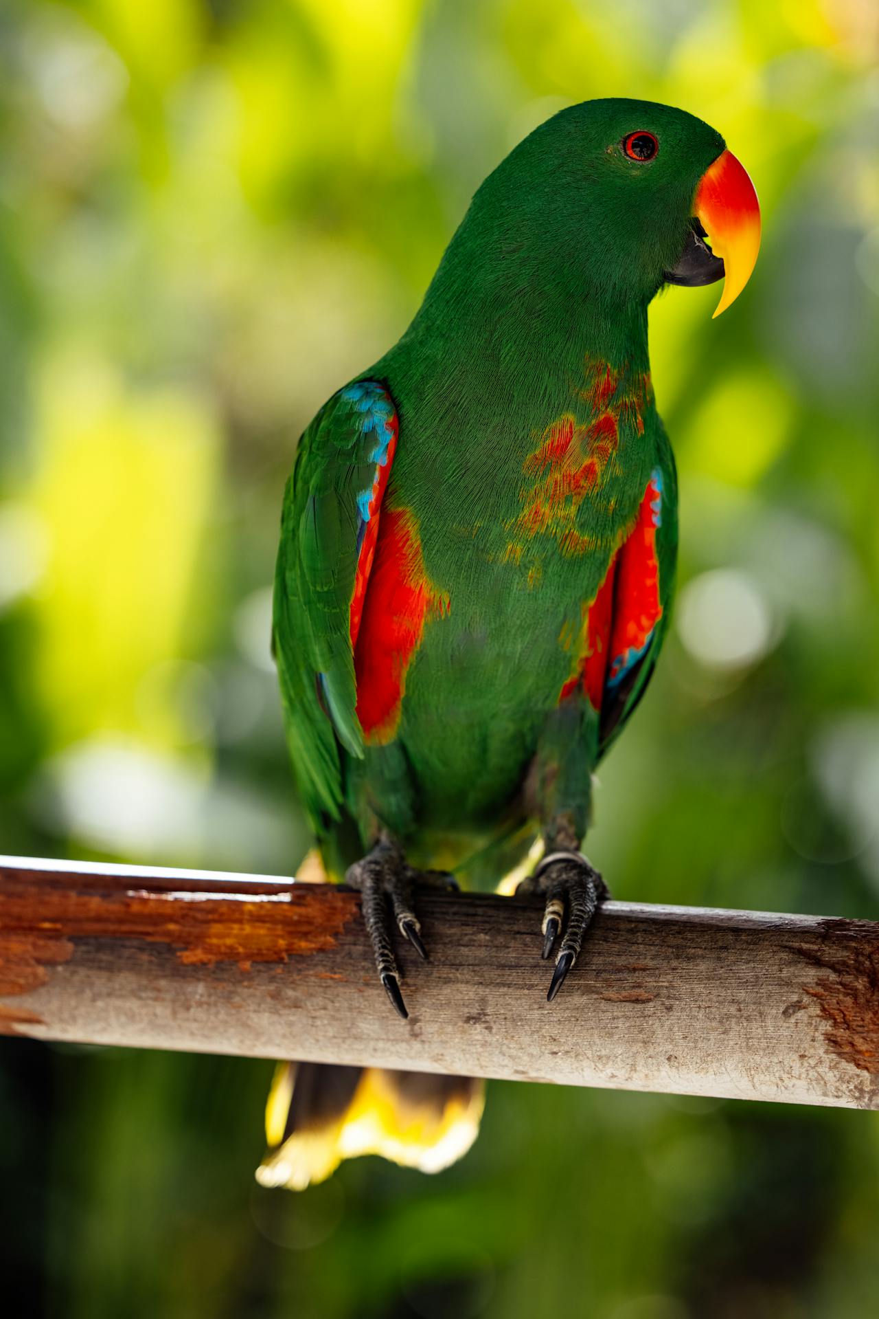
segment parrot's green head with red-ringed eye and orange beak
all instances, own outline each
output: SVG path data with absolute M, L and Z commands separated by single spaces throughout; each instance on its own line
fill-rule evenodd
M 588 100 L 540 124 L 481 191 L 513 251 L 542 252 L 572 289 L 647 302 L 664 284 L 725 278 L 714 311 L 738 297 L 760 245 L 760 211 L 721 135 L 647 100 Z M 478 194 L 477 194 L 478 199 Z M 542 273 L 547 264 L 542 259 Z

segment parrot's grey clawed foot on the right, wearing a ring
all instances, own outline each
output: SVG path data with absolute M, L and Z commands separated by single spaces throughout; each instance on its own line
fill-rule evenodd
M 582 853 L 556 851 L 543 857 L 534 874 L 525 880 L 517 892 L 546 896 L 540 926 L 544 960 L 552 952 L 561 933 L 565 897 L 568 900 L 568 923 L 556 954 L 556 966 L 547 993 L 547 1002 L 552 1002 L 571 967 L 577 960 L 582 947 L 582 936 L 589 929 L 593 915 L 608 897 L 608 886 Z

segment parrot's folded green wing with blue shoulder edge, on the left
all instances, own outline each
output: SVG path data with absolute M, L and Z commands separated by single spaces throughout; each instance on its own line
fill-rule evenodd
M 395 447 L 387 389 L 356 381 L 306 429 L 285 492 L 273 645 L 294 773 L 315 824 L 339 818 L 339 743 L 364 754 L 354 645 Z

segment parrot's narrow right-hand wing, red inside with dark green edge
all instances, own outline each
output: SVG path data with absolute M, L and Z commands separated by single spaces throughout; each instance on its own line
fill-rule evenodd
M 611 594 L 604 646 L 600 756 L 647 690 L 666 636 L 677 551 L 676 510 L 675 464 L 667 450 L 651 474 L 635 525 L 602 588 Z

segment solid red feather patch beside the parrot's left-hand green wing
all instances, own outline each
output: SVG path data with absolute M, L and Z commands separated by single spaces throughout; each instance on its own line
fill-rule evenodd
M 424 624 L 448 612 L 448 595 L 424 571 L 412 513 L 383 508 L 354 649 L 357 718 L 368 743 L 383 745 L 393 739 Z

